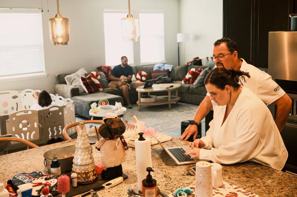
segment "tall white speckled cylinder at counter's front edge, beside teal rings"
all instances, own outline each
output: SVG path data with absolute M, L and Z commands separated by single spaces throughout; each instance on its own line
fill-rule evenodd
M 196 163 L 195 197 L 212 197 L 211 164 Z

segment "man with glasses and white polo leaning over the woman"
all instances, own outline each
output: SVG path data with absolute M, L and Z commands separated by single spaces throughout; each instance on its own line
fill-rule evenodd
M 292 100 L 285 91 L 272 80 L 271 76 L 255 66 L 247 64 L 244 59 L 241 59 L 237 44 L 230 38 L 222 38 L 214 43 L 213 57 L 211 57 L 211 60 L 216 63 L 217 67 L 249 72 L 251 78 L 247 79 L 246 83 L 242 80 L 244 87 L 254 92 L 266 105 L 273 103 L 277 106 L 275 123 L 279 132 L 281 132 L 288 120 Z M 190 125 L 179 139 L 187 140 L 194 134 L 193 139 L 195 140 L 198 134 L 197 125 L 215 106 L 216 103 L 210 101 L 209 93 L 207 93 L 199 105 L 193 121 L 190 122 Z

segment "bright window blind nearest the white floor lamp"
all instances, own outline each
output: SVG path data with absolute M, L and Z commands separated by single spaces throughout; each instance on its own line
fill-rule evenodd
M 164 14 L 140 13 L 140 62 L 165 61 Z

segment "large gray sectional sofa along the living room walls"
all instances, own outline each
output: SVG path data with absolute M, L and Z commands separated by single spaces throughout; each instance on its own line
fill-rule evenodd
M 213 64 L 214 65 L 214 64 Z M 172 71 L 170 72 L 170 77 L 173 79 L 173 83 L 180 83 L 184 76 L 191 68 L 206 68 L 208 66 L 213 66 L 211 62 L 207 66 L 173 66 Z M 154 66 L 135 66 L 133 67 L 133 72 L 136 76 L 136 73 L 139 71 L 144 71 L 148 74 L 149 71 L 153 70 Z M 98 102 L 100 99 L 108 99 L 111 105 L 114 105 L 115 102 L 121 102 L 125 105 L 123 94 L 121 90 L 103 90 L 102 92 L 96 92 L 92 94 L 79 93 L 78 88 L 66 85 L 64 77 L 69 74 L 57 74 L 56 75 L 56 84 L 54 85 L 54 91 L 59 96 L 64 98 L 71 98 L 75 104 L 75 114 L 90 118 L 89 110 L 91 109 L 90 105 L 94 102 Z M 158 95 L 162 95 L 166 92 L 158 92 Z M 173 92 L 173 94 L 175 94 Z M 193 87 L 189 83 L 181 84 L 181 87 L 178 89 L 178 95 L 181 97 L 180 102 L 190 103 L 190 104 L 200 104 L 206 95 L 206 88 L 203 87 Z M 135 104 L 138 101 L 138 92 L 135 89 L 129 91 L 129 98 L 131 104 Z

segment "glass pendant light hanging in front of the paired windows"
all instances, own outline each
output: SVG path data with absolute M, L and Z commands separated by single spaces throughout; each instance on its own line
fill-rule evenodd
M 122 18 L 122 36 L 125 42 L 135 42 L 139 37 L 139 21 L 130 13 L 130 0 L 128 0 L 128 4 L 129 14 L 126 18 Z

